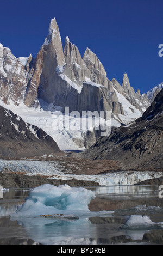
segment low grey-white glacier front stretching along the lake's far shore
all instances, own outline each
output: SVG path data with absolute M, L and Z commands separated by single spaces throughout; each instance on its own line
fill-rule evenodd
M 135 170 L 121 170 L 112 171 L 104 174 L 86 175 L 86 174 L 68 174 L 68 170 L 64 166 L 64 162 L 42 161 L 24 159 L 24 160 L 0 160 L 0 172 L 14 172 L 24 173 L 25 175 L 41 175 L 48 176 L 48 179 L 59 180 L 87 180 L 95 181 L 101 186 L 127 186 L 135 185 L 138 182 L 156 179 L 163 176 L 162 172 L 153 171 L 135 171 Z M 73 164 L 73 163 L 72 163 Z M 99 170 L 100 172 L 100 170 Z

